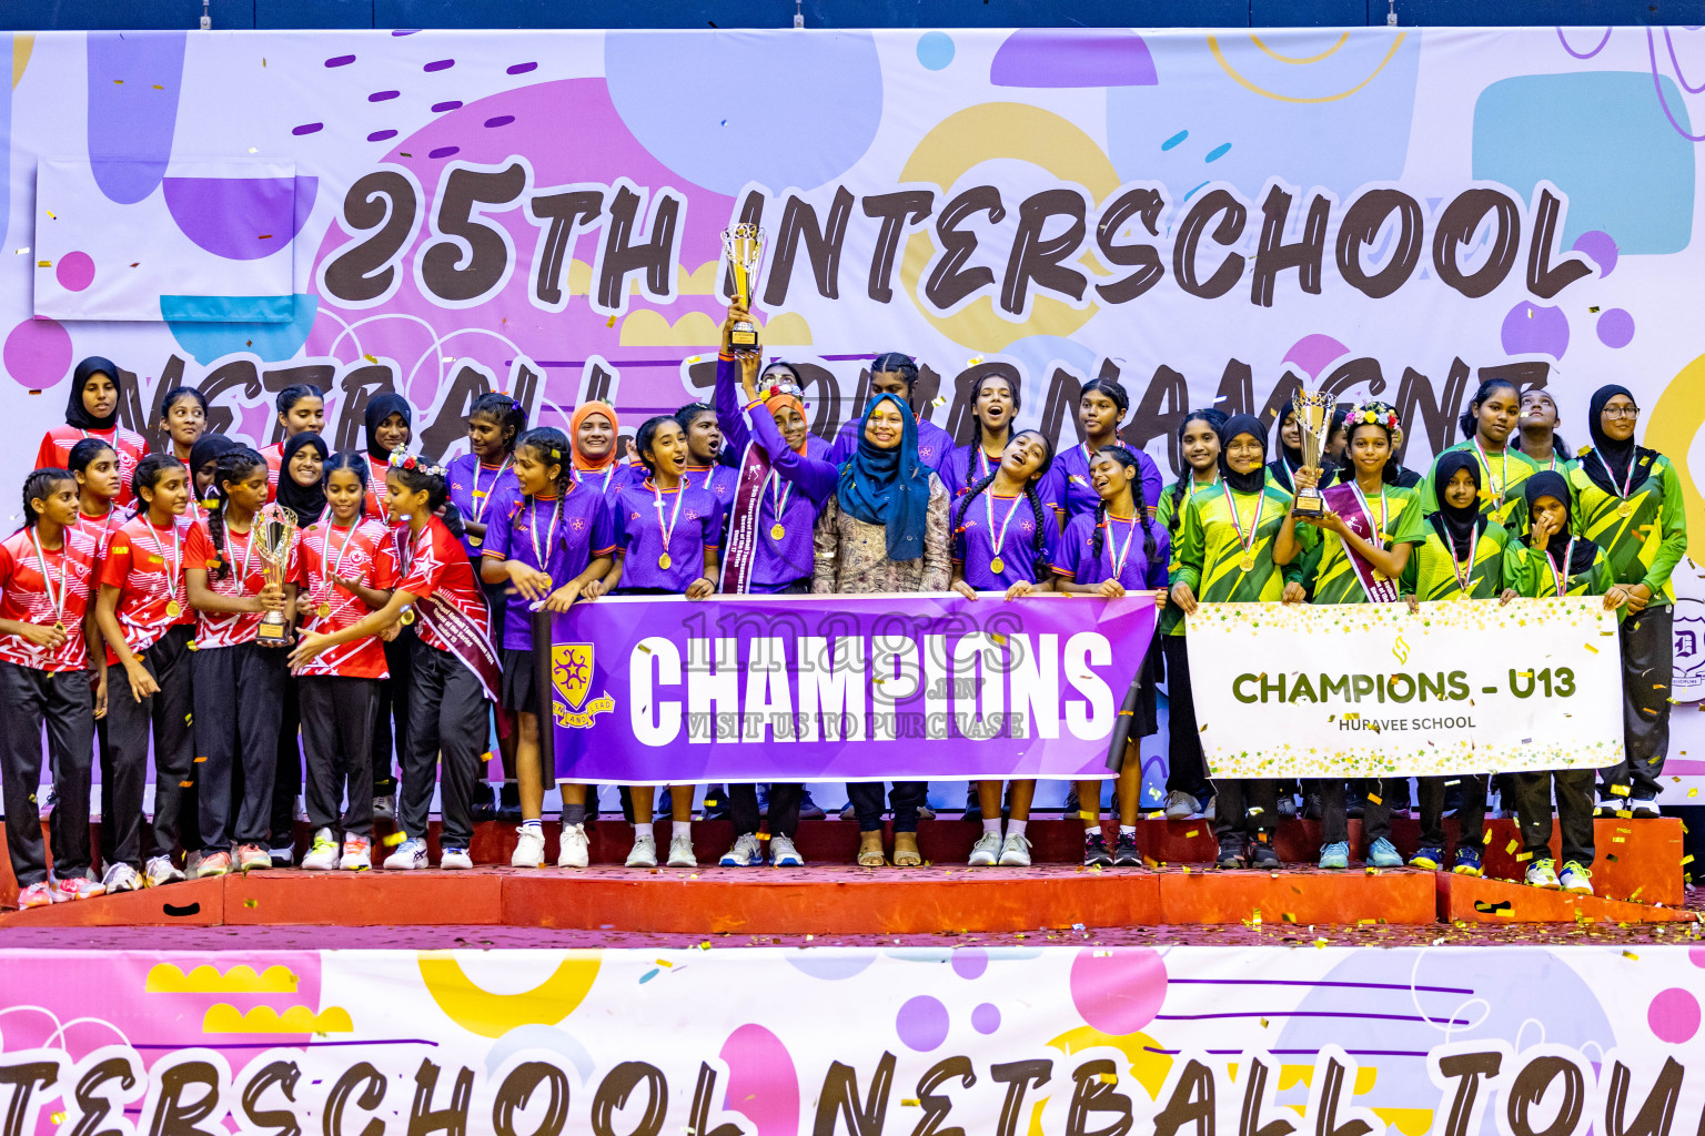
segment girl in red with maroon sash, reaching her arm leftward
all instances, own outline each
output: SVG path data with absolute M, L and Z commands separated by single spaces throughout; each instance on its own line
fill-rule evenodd
M 392 530 L 399 548 L 397 588 L 385 606 L 355 623 L 324 635 L 303 635 L 290 652 L 290 664 L 302 671 L 332 647 L 382 634 L 404 618 L 404 610 L 414 617 L 409 743 L 402 753 L 402 799 L 397 807 L 406 840 L 385 857 L 385 867 L 426 867 L 426 809 L 438 782 L 442 749 L 443 836 L 438 867 L 471 869 L 474 862 L 467 845 L 474 826 L 469 812 L 488 737 L 486 702 L 496 700 L 501 685 L 498 652 L 491 645 L 491 617 L 462 542 L 436 516 L 450 492 L 443 468 L 397 453 L 387 479 L 385 499 L 397 525 Z

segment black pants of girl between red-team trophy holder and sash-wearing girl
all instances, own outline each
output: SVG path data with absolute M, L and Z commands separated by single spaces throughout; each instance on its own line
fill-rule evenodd
M 307 807 L 314 831 L 368 836 L 373 829 L 373 722 L 379 719 L 377 678 L 309 674 L 302 685 L 302 749 L 307 758 Z

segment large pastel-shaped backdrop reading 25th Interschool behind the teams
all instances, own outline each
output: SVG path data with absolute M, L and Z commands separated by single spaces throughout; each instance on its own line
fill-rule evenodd
M 1117 375 L 1125 438 L 1170 470 L 1187 407 L 1270 417 L 1299 383 L 1395 402 L 1425 465 L 1488 373 L 1552 388 L 1577 446 L 1615 380 L 1705 526 L 1698 29 L 10 44 L 0 484 L 84 354 L 135 375 L 121 416 L 155 438 L 179 382 L 256 443 L 293 382 L 329 388 L 339 448 L 380 390 L 431 453 L 465 445 L 488 388 L 542 424 L 604 397 L 631 433 L 708 390 L 720 232 L 750 218 L 767 351 L 801 364 L 825 434 L 887 349 L 921 359 L 950 431 L 1003 370 L 1061 445 L 1078 385 Z M 1691 700 L 1705 584 L 1679 577 Z

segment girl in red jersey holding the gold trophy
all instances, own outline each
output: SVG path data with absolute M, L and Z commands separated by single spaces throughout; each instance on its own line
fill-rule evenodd
M 254 547 L 256 513 L 266 504 L 266 460 L 239 446 L 220 455 L 213 473 L 220 501 L 189 531 L 184 576 L 198 613 L 194 727 L 199 758 L 201 879 L 273 867 L 266 850 L 285 710 L 285 652 L 256 642 L 261 615 L 292 615 L 297 547 L 285 559 L 285 584 L 266 582 Z M 234 799 L 234 765 L 242 761 L 242 797 Z M 235 809 L 234 809 L 235 807 Z M 235 814 L 234 814 L 235 812 Z

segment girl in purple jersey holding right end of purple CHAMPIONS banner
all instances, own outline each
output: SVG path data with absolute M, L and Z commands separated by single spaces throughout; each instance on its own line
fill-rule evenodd
M 1054 560 L 1057 586 L 1064 593 L 1105 596 L 1153 591 L 1156 608 L 1166 606 L 1166 567 L 1171 542 L 1154 509 L 1139 496 L 1142 465 L 1124 446 L 1101 446 L 1089 463 L 1095 513 L 1074 516 L 1061 536 Z M 1101 838 L 1101 782 L 1078 782 L 1084 841 L 1084 867 L 1142 867 L 1137 852 L 1137 794 L 1142 789 L 1142 754 L 1137 739 L 1159 729 L 1154 683 L 1159 669 L 1159 640 L 1149 645 L 1137 680 L 1125 695 L 1108 765 L 1117 760 L 1118 840 L 1113 852 Z M 1117 758 L 1115 758 L 1117 754 Z

